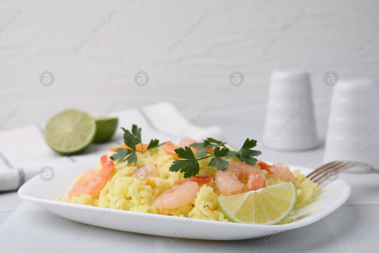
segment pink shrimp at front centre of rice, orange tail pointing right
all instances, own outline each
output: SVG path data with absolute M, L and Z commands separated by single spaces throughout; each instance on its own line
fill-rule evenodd
M 154 200 L 154 206 L 158 209 L 173 209 L 190 204 L 196 193 L 200 191 L 200 184 L 207 184 L 211 176 L 194 176 L 165 190 Z

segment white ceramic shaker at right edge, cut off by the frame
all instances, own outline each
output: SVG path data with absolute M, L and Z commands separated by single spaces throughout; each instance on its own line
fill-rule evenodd
M 335 160 L 365 162 L 379 168 L 379 98 L 374 80 L 341 80 L 334 87 L 324 163 Z

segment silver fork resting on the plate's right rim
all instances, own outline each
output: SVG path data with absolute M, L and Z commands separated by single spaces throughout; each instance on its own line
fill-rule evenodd
M 318 185 L 321 185 L 326 181 L 332 182 L 337 180 L 339 173 L 357 166 L 366 167 L 368 171 L 379 173 L 379 170 L 374 169 L 373 166 L 368 163 L 334 161 L 312 171 L 307 175 L 307 178 L 316 182 Z

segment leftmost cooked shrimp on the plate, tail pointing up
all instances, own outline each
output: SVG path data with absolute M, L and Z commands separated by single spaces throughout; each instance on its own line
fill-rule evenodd
M 96 196 L 104 187 L 111 175 L 114 164 L 113 161 L 106 155 L 100 159 L 103 168 L 96 174 L 94 169 L 87 170 L 78 181 L 75 182 L 72 189 L 69 191 L 69 200 L 72 197 L 78 197 L 81 194 Z

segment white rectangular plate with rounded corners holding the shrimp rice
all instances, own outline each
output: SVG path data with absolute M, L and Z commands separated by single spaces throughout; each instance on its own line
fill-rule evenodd
M 284 225 L 218 222 L 55 201 L 58 196 L 66 196 L 65 191 L 70 190 L 72 180 L 79 173 L 96 163 L 95 160 L 88 160 L 56 168 L 55 176 L 50 182 L 45 182 L 36 175 L 23 184 L 17 193 L 22 200 L 36 203 L 64 218 L 103 228 L 190 239 L 240 240 L 267 236 L 316 222 L 340 207 L 351 192 L 349 185 L 342 179 L 330 182 L 317 201 L 299 209 L 296 221 Z M 296 169 L 305 174 L 312 171 L 309 168 L 291 166 L 291 170 Z

